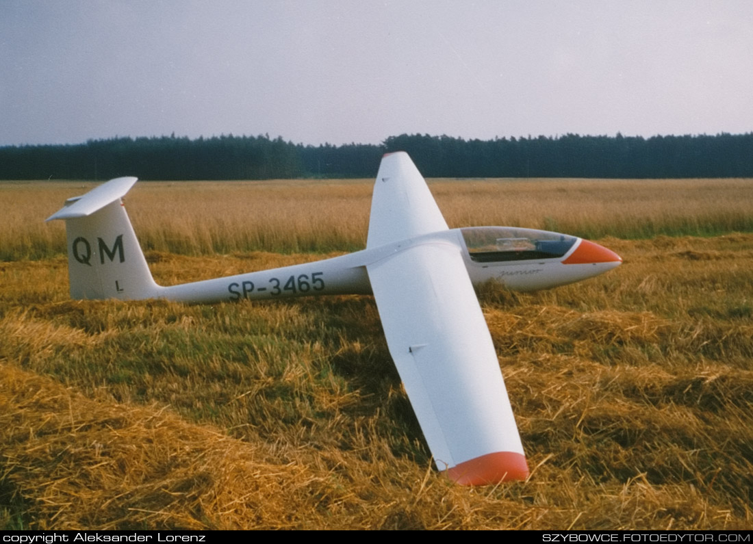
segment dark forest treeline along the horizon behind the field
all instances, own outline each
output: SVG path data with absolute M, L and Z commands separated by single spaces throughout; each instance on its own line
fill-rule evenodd
M 753 132 L 742 135 L 464 140 L 399 135 L 383 144 L 294 144 L 282 138 L 111 138 L 0 147 L 2 179 L 151 180 L 371 178 L 380 157 L 404 150 L 431 178 L 748 178 Z

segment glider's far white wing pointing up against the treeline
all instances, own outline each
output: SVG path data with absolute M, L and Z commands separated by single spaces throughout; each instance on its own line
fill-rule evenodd
M 371 199 L 367 248 L 447 230 L 421 173 L 404 151 L 387 153 Z

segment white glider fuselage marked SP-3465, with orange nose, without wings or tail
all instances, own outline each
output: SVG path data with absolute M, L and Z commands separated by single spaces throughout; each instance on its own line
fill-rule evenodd
M 497 238 L 498 247 L 495 249 L 507 251 L 469 251 L 468 242 L 476 232 L 490 232 L 493 237 L 495 234 L 508 234 L 510 230 L 508 227 L 474 227 L 432 232 L 415 239 L 312 263 L 172 287 L 155 286 L 153 296 L 175 301 L 221 302 L 289 296 L 371 294 L 366 266 L 418 245 L 440 244 L 458 248 L 468 276 L 477 288 L 488 281 L 495 281 L 511 290 L 547 289 L 602 274 L 622 262 L 617 254 L 593 242 L 532 229 L 515 229 L 515 232 L 524 232 L 527 237 Z M 563 248 L 566 251 L 561 255 L 537 251 L 537 245 L 539 248 L 542 245 L 538 239 L 547 237 L 566 238 L 567 247 Z M 547 241 L 543 243 L 546 244 Z M 584 251 L 586 248 L 588 253 Z M 399 281 L 400 278 L 396 279 Z

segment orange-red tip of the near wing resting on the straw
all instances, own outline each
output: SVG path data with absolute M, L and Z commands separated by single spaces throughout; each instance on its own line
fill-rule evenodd
M 526 456 L 513 451 L 496 451 L 464 461 L 447 470 L 460 485 L 489 485 L 528 478 Z

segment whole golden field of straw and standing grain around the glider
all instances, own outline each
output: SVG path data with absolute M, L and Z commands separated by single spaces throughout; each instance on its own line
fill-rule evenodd
M 371 181 L 142 183 L 155 279 L 362 248 Z M 480 302 L 532 469 L 431 469 L 368 296 L 68 295 L 93 184 L 0 184 L 0 527 L 753 528 L 753 181 L 434 180 L 450 226 L 586 236 L 620 268 Z M 12 204 L 12 205 L 11 205 Z

